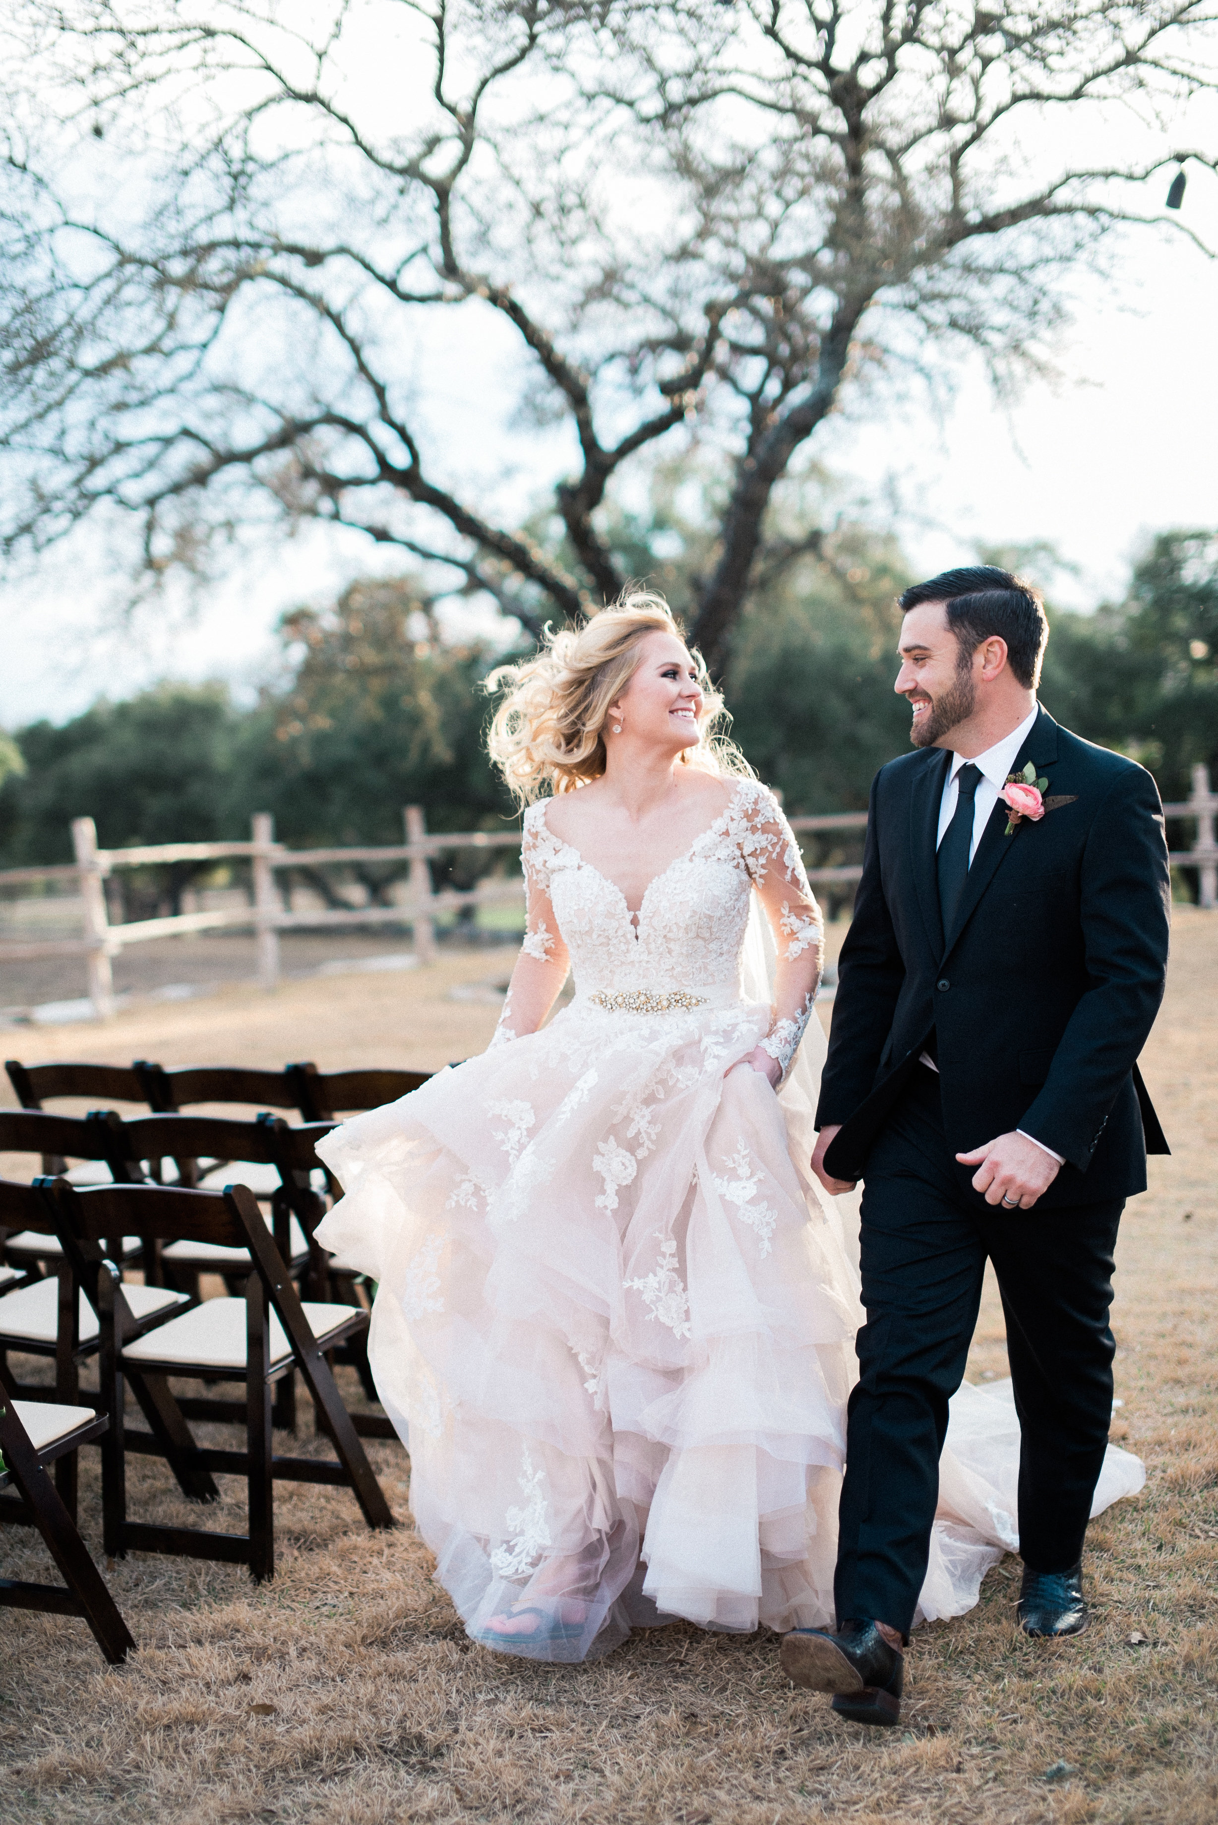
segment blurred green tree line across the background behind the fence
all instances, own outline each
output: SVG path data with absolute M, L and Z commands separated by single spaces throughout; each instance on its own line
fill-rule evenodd
M 665 589 L 698 568 L 709 537 L 665 487 L 645 518 L 615 526 L 623 564 Z M 866 807 L 875 770 L 906 750 L 909 714 L 891 683 L 895 597 L 909 580 L 895 538 L 851 522 L 760 577 L 725 692 L 736 739 L 791 812 Z M 1121 602 L 1050 608 L 1050 622 L 1052 714 L 1147 765 L 1165 799 L 1187 796 L 1196 761 L 1218 772 L 1218 535 L 1158 535 Z M 0 754 L 0 865 L 69 860 L 82 814 L 106 847 L 241 838 L 254 810 L 272 810 L 296 845 L 400 841 L 405 803 L 436 830 L 511 814 L 482 743 L 482 686 L 502 648 L 446 642 L 416 577 L 354 582 L 329 610 L 285 615 L 279 637 L 281 675 L 252 706 L 219 684 L 166 683 L 16 730 Z M 460 867 L 447 878 L 462 881 Z M 385 881 L 365 885 L 376 898 Z

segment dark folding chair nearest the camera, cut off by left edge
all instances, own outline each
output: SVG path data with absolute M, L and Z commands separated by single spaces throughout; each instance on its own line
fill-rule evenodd
M 131 1632 L 46 1473 L 47 1464 L 75 1458 L 77 1449 L 100 1438 L 106 1427 L 106 1414 L 91 1407 L 29 1405 L 0 1394 L 0 1489 L 13 1486 L 18 1493 L 18 1500 L 0 1496 L 0 1520 L 35 1526 L 64 1579 L 62 1584 L 0 1579 L 0 1608 L 82 1615 L 97 1646 L 117 1666 L 135 1646 Z

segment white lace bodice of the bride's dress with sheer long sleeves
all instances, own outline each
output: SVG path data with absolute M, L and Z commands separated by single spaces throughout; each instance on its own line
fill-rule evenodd
M 774 1024 L 763 1044 L 789 1066 L 816 993 L 822 922 L 772 792 L 738 781 L 714 823 L 650 881 L 637 916 L 614 881 L 550 830 L 544 801 L 524 814 L 522 860 L 528 931 L 497 1042 L 541 1024 L 568 965 L 581 998 L 696 991 L 721 1006 L 738 996 L 756 889 L 778 947 Z M 548 998 L 541 1013 L 530 1006 L 528 1018 L 522 1002 L 535 1004 L 537 991 Z

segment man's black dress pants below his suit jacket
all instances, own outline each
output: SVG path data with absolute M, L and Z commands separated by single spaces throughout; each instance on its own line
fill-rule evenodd
M 939 1077 L 915 1071 L 867 1157 L 860 1378 L 849 1400 L 838 1624 L 913 1622 L 939 1500 L 948 1400 L 964 1378 L 986 1257 L 1015 1383 L 1019 1549 L 1077 1564 L 1112 1418 L 1112 1250 L 1123 1199 L 1041 1212 L 982 1204 L 942 1132 Z

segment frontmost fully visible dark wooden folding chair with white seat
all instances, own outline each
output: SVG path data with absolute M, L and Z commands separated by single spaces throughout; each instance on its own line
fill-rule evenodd
M 274 1575 L 274 1480 L 341 1484 L 356 1495 L 369 1528 L 393 1528 L 394 1518 L 343 1407 L 325 1350 L 367 1325 L 367 1312 L 351 1305 L 301 1305 L 276 1250 L 257 1199 L 243 1184 L 223 1194 L 159 1184 L 88 1186 L 44 1179 L 40 1186 L 58 1214 L 60 1239 L 69 1252 L 100 1318 L 100 1376 L 110 1431 L 102 1440 L 102 1507 L 106 1551 L 184 1553 L 248 1564 L 256 1580 Z M 248 1248 L 254 1272 L 243 1299 L 206 1299 L 157 1332 L 131 1338 L 131 1314 L 117 1268 L 102 1256 L 102 1237 L 115 1221 L 139 1226 L 142 1236 L 172 1241 L 208 1241 L 221 1248 Z M 299 1369 L 321 1427 L 338 1462 L 278 1456 L 272 1444 L 274 1383 Z M 245 1383 L 245 1451 L 195 1445 L 170 1394 L 168 1378 Z M 164 1528 L 128 1520 L 126 1451 L 164 1455 L 152 1434 L 128 1433 L 124 1382 L 144 1405 L 144 1391 L 177 1409 L 175 1451 L 188 1469 L 226 1471 L 247 1478 L 248 1533 L 208 1533 L 201 1528 Z M 144 1405 L 144 1411 L 146 1405 Z

